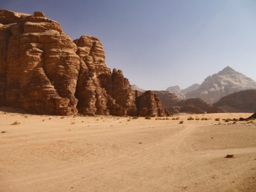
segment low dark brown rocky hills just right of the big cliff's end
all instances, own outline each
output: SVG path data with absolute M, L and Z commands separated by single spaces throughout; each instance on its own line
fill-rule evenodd
M 213 105 L 207 104 L 200 98 L 180 100 L 178 96 L 169 91 L 154 91 L 169 113 L 222 113 L 225 112 Z

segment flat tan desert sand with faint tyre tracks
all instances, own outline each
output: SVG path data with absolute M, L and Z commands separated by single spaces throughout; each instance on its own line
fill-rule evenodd
M 2 110 L 0 191 L 256 191 L 256 120 L 222 120 L 250 115 L 146 120 Z

